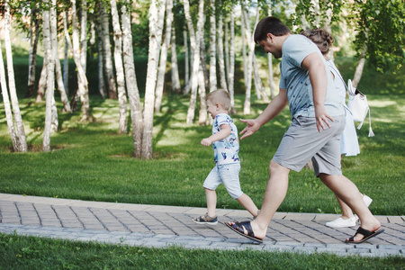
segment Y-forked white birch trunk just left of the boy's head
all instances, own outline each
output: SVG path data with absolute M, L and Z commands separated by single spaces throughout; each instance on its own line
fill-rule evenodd
M 193 46 L 193 69 L 192 69 L 192 86 L 191 86 L 191 96 L 190 104 L 187 111 L 186 123 L 192 124 L 195 113 L 195 103 L 197 101 L 197 88 L 198 88 L 198 71 L 200 68 L 200 42 L 202 36 L 202 27 L 203 27 L 203 8 L 204 2 L 200 1 L 199 11 L 198 11 L 198 23 L 197 31 L 193 29 L 193 21 L 190 15 L 190 4 L 188 0 L 184 0 L 184 15 L 188 24 L 190 31 L 190 40 Z

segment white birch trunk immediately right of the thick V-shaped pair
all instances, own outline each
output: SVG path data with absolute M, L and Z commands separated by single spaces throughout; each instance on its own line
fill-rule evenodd
M 173 22 L 172 8 L 173 8 L 173 0 L 166 0 L 166 33 L 165 33 L 165 40 L 163 40 L 162 49 L 160 51 L 160 63 L 157 72 L 155 112 L 160 112 L 160 105 L 162 104 L 162 97 L 163 97 L 163 88 L 165 86 L 167 50 L 170 44 L 172 34 L 172 22 Z

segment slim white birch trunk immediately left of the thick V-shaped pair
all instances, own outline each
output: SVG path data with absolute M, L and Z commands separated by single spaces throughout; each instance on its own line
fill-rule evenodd
M 127 133 L 127 95 L 125 93 L 125 76 L 122 67 L 122 32 L 118 16 L 117 3 L 111 0 L 112 28 L 114 31 L 114 61 L 117 73 L 118 103 L 120 104 L 119 133 Z

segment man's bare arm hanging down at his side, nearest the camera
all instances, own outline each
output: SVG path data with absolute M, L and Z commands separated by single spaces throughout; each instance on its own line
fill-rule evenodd
M 328 87 L 328 76 L 322 58 L 316 52 L 312 52 L 303 59 L 302 68 L 308 69 L 315 106 L 315 118 L 319 131 L 325 130 L 325 124 L 330 128 L 329 121 L 333 121 L 325 108 L 325 97 Z

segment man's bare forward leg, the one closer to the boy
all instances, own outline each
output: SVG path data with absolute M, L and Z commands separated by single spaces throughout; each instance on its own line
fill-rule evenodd
M 268 179 L 262 209 L 257 218 L 250 222 L 256 238 L 265 238 L 268 224 L 275 215 L 280 204 L 284 201 L 288 189 L 288 175 L 290 169 L 270 161 L 270 178 Z M 229 225 L 234 222 L 229 222 Z M 247 231 L 245 231 L 247 233 Z

